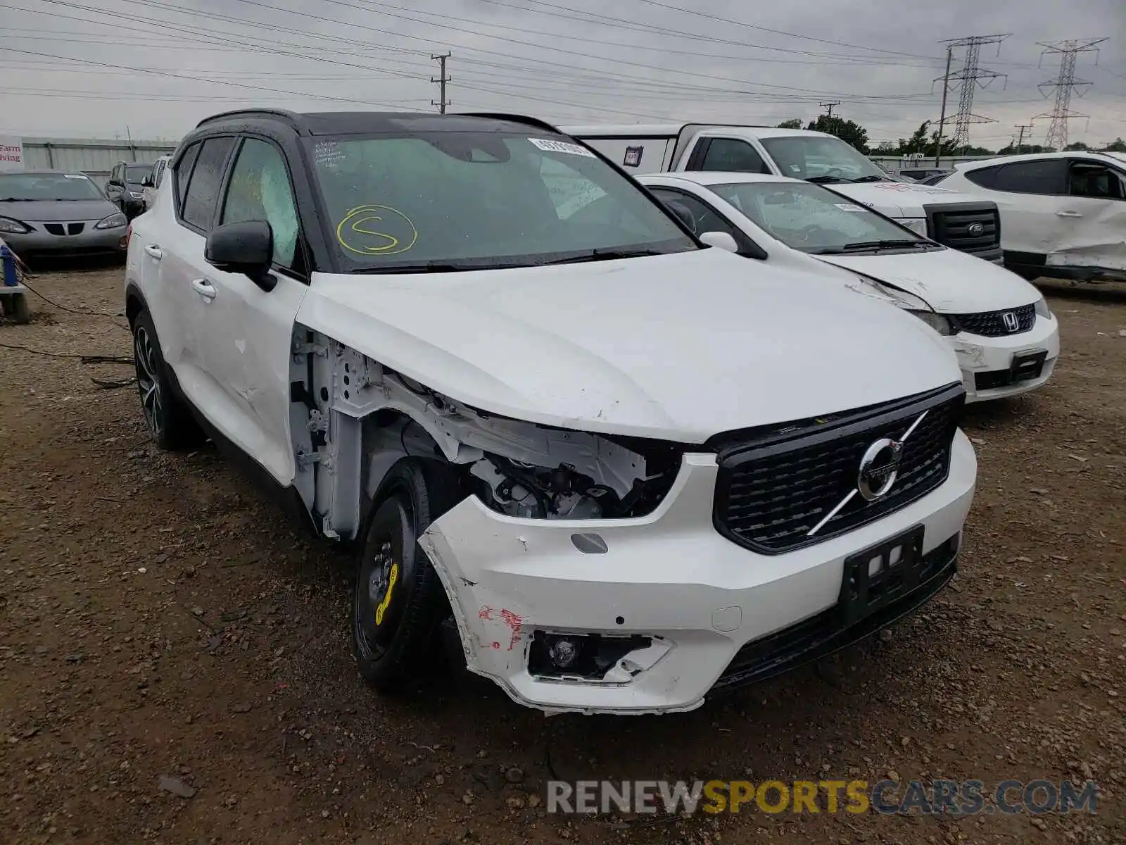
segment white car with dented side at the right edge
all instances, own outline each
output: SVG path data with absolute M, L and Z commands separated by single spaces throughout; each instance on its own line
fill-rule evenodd
M 1126 154 L 1006 155 L 939 185 L 997 203 L 1006 266 L 1026 278 L 1126 281 Z

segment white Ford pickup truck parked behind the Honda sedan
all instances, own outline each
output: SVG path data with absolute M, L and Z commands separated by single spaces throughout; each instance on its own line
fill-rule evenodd
M 858 203 L 953 249 L 1001 260 L 997 203 L 897 181 L 823 132 L 705 123 L 563 126 L 631 175 L 683 170 L 775 174 L 832 185 Z

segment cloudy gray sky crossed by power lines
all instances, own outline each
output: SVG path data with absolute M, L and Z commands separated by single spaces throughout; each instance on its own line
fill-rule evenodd
M 1009 34 L 982 50 L 1008 80 L 977 90 L 995 123 L 974 143 L 1051 110 L 1037 84 L 1058 56 L 1037 42 L 1063 38 L 1108 38 L 1079 57 L 1090 117 L 1069 140 L 1126 136 L 1126 0 L 3 0 L 0 34 L 0 133 L 25 136 L 178 139 L 256 105 L 431 110 L 430 56 L 450 52 L 452 110 L 777 123 L 839 100 L 876 143 L 938 117 L 941 39 L 986 34 Z

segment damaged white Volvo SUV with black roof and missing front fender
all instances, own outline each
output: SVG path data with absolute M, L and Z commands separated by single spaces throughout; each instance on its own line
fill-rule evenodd
M 239 112 L 169 174 L 126 263 L 145 420 L 356 541 L 378 688 L 456 629 L 522 704 L 690 710 L 953 576 L 976 460 L 941 338 L 748 273 L 552 126 Z

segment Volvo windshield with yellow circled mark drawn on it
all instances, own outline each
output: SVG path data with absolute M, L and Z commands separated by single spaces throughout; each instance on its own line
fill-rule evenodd
M 334 246 L 352 272 L 698 248 L 633 181 L 562 139 L 421 132 L 309 143 Z

